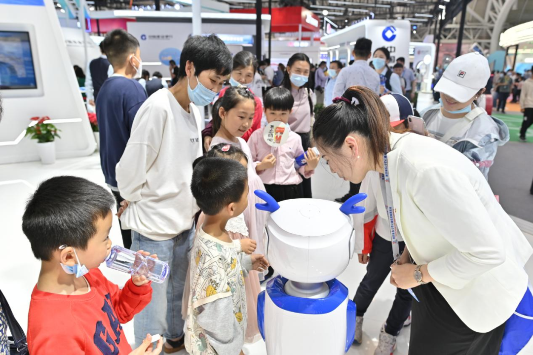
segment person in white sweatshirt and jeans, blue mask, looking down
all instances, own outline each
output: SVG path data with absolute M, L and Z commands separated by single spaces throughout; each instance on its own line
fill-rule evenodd
M 228 47 L 215 35 L 187 39 L 177 84 L 157 90 L 142 105 L 116 166 L 127 201 L 120 220 L 133 231 L 134 249 L 149 249 L 170 266 L 169 282 L 152 284 L 154 302 L 134 318 L 138 344 L 144 334 L 157 333 L 165 335 L 167 352 L 184 348 L 179 310 L 198 211 L 189 184 L 192 162 L 202 153 L 197 105 L 213 101 L 232 63 Z

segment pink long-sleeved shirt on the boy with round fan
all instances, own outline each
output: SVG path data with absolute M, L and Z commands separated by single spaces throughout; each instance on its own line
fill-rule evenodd
M 254 131 L 248 139 L 248 145 L 252 152 L 254 162 L 261 162 L 266 155 L 271 152 L 276 157 L 276 164 L 273 168 L 259 171 L 257 174 L 261 177 L 265 185 L 298 185 L 302 182 L 302 174 L 306 179 L 313 175 L 314 170 L 305 171 L 305 166 L 296 170 L 294 160 L 297 156 L 303 154 L 302 138 L 293 131 L 289 133 L 287 142 L 273 148 L 266 144 L 263 138 L 264 127 Z M 255 164 L 254 164 L 255 166 Z M 300 172 L 300 174 L 298 174 Z

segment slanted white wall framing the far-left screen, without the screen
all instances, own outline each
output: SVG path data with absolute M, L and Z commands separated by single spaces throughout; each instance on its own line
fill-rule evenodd
M 3 4 L 4 3 L 4 4 Z M 0 0 L 0 23 L 31 24 L 35 31 L 37 61 L 41 71 L 43 96 L 4 97 L 4 118 L 0 123 L 0 163 L 38 160 L 36 141 L 16 141 L 28 127 L 30 118 L 49 116 L 51 119 L 80 119 L 79 122 L 57 123 L 61 138 L 56 138 L 58 158 L 89 155 L 96 142 L 83 105 L 74 69 L 67 53 L 64 38 L 52 0 L 44 6 L 6 5 Z M 0 95 L 3 90 L 0 90 Z

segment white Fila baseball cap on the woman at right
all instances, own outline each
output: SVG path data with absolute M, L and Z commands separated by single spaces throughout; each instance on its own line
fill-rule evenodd
M 435 85 L 435 91 L 451 96 L 458 102 L 467 102 L 487 85 L 489 78 L 487 58 L 478 52 L 468 53 L 451 61 Z

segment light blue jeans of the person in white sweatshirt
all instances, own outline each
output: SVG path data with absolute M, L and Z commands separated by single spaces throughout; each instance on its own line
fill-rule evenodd
M 152 282 L 152 301 L 133 317 L 135 346 L 140 346 L 147 333 L 166 338 L 183 335 L 185 321 L 181 318 L 181 300 L 195 226 L 167 241 L 154 241 L 132 230 L 132 250 L 157 254 L 168 262 L 170 275 L 162 284 Z

